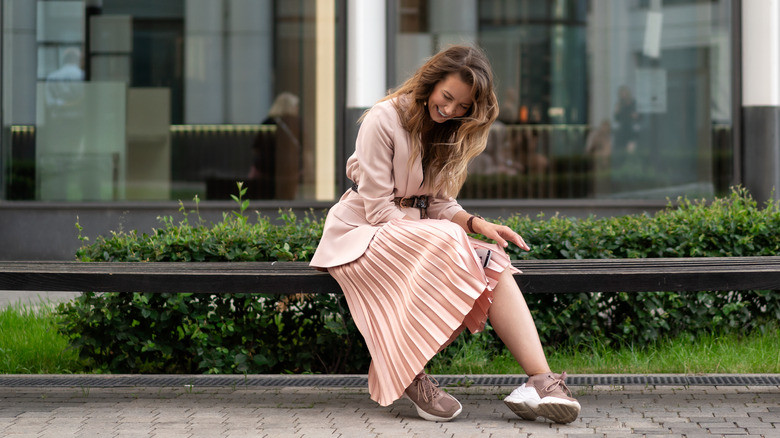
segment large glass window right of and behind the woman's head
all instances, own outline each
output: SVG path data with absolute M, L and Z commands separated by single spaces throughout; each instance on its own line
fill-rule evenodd
M 501 105 L 461 198 L 722 194 L 732 178 L 729 0 L 404 0 L 396 77 L 452 42 Z

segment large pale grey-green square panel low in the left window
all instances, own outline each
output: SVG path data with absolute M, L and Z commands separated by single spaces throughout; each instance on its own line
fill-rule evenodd
M 69 82 L 42 82 L 38 86 L 36 198 L 124 199 L 125 85 Z M 62 88 L 64 84 L 71 87 Z

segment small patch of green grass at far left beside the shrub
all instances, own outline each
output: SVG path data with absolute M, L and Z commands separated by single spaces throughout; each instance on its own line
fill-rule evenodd
M 54 307 L 42 301 L 0 309 L 0 374 L 81 372 L 77 352 L 57 331 Z

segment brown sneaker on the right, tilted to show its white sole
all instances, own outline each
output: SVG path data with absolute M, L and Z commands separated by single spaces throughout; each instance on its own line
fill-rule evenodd
M 537 374 L 512 391 L 504 403 L 524 420 L 543 417 L 556 423 L 566 424 L 577 419 L 580 404 L 571 397 L 571 391 L 564 383 L 566 373 Z

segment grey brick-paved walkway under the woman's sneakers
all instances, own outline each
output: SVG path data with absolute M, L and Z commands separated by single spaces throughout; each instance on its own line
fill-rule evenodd
M 780 437 L 780 386 L 572 387 L 583 410 L 569 425 L 519 419 L 501 401 L 512 389 L 451 388 L 463 413 L 434 423 L 364 388 L 0 387 L 0 436 Z

